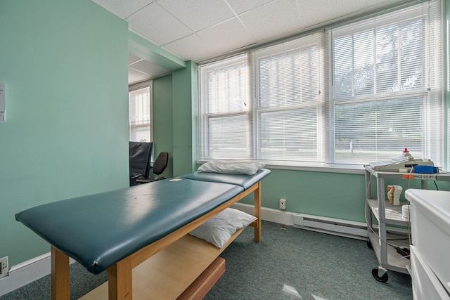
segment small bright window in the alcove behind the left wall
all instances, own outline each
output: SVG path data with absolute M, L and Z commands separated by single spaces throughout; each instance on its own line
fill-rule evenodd
M 150 107 L 149 86 L 129 92 L 129 141 L 152 141 Z

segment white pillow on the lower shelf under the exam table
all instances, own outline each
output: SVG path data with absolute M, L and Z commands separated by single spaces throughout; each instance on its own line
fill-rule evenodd
M 228 208 L 198 226 L 189 234 L 221 248 L 236 230 L 250 225 L 256 219 L 257 217 L 238 209 Z

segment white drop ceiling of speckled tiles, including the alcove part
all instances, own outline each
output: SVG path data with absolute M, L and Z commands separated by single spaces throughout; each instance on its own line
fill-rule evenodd
M 183 60 L 200 61 L 411 0 L 92 0 L 129 30 Z M 129 57 L 139 82 L 169 71 Z

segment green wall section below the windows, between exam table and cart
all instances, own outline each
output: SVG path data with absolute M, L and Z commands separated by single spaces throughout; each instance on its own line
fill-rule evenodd
M 272 169 L 262 183 L 262 206 L 352 221 L 364 221 L 364 176 Z M 243 203 L 252 204 L 246 197 Z

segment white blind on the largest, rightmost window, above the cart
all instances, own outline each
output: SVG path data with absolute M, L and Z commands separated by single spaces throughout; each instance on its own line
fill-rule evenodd
M 424 3 L 330 32 L 331 162 L 399 156 L 442 166 L 441 14 Z

